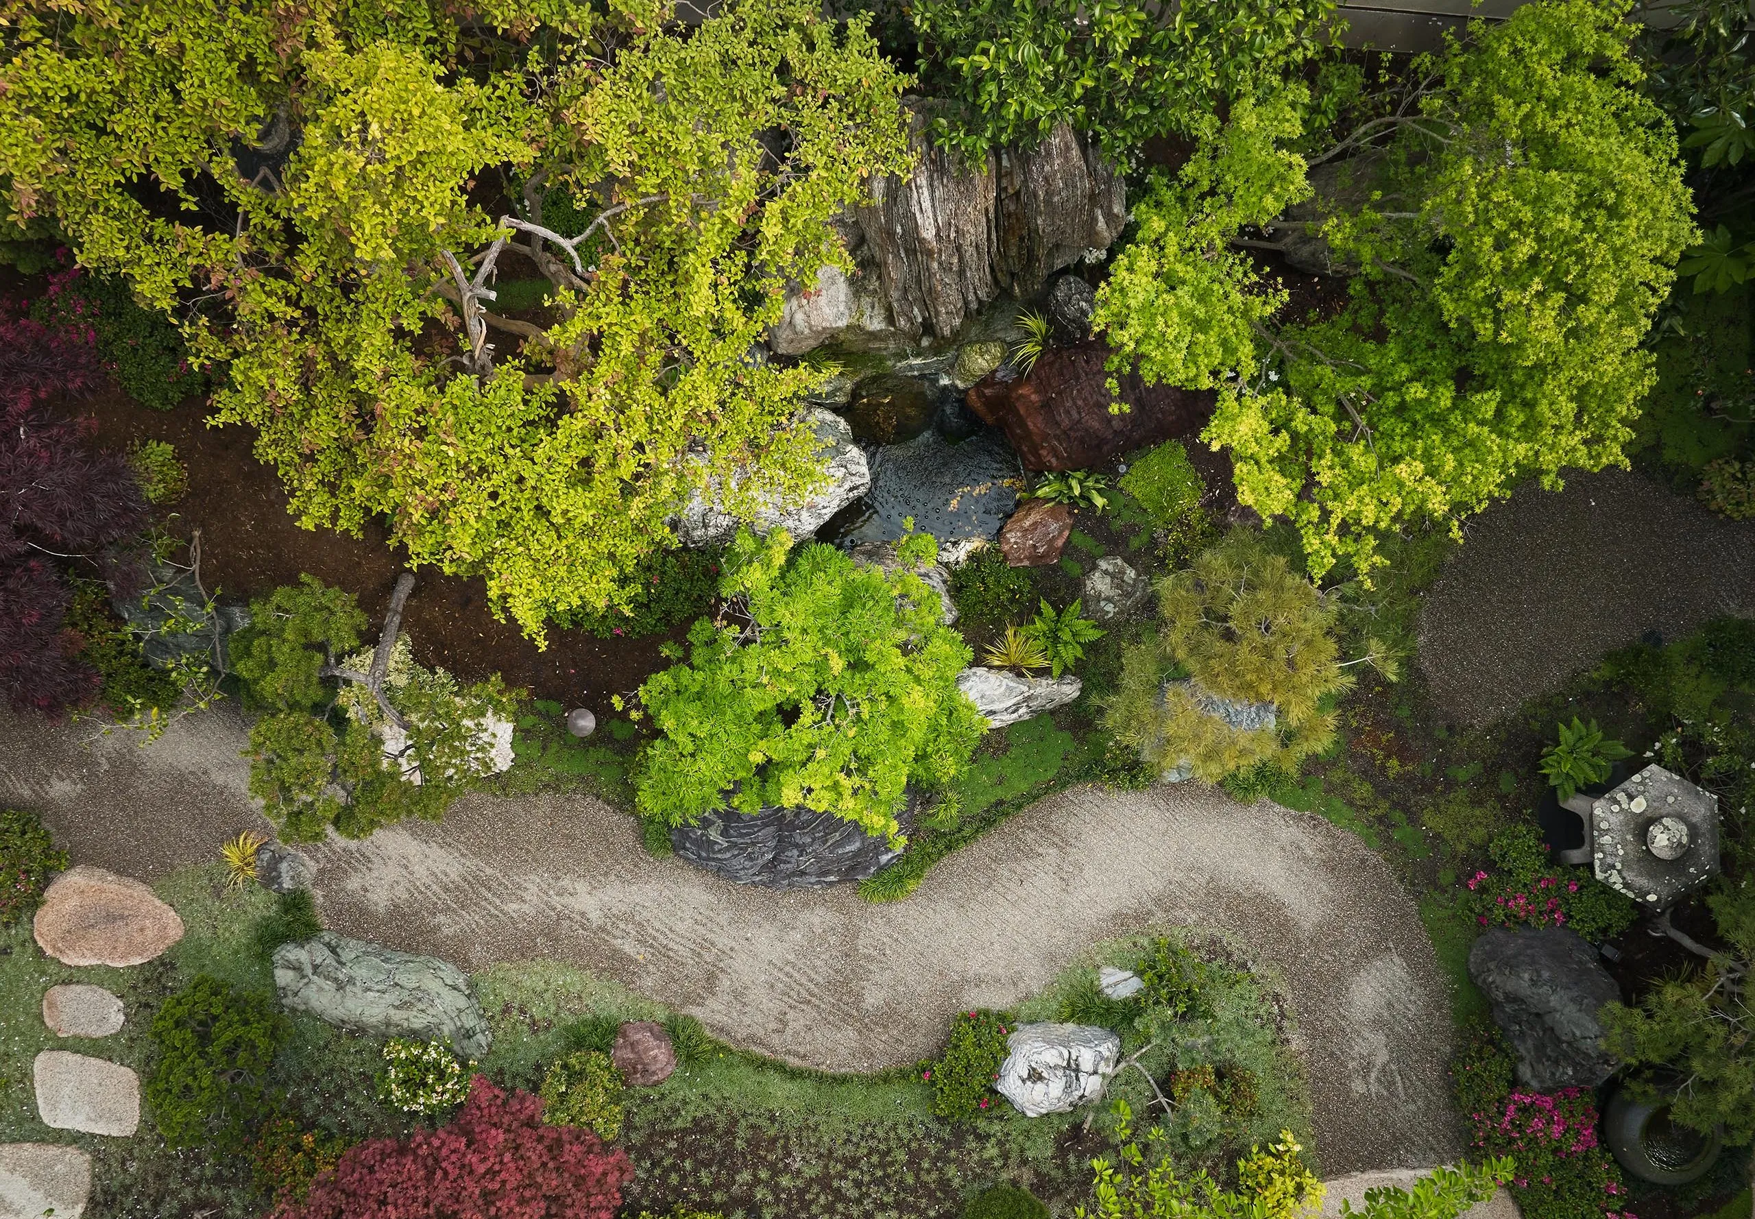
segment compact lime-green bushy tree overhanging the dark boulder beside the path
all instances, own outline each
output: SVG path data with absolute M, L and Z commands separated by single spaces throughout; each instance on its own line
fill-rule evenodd
M 720 617 L 690 630 L 688 663 L 641 688 L 634 710 L 656 740 L 637 766 L 639 810 L 679 826 L 727 807 L 811 809 L 899 840 L 907 784 L 944 788 L 985 728 L 956 689 L 972 652 L 911 570 L 788 547 L 784 530 L 739 531 Z M 925 535 L 897 549 L 909 567 L 937 552 Z

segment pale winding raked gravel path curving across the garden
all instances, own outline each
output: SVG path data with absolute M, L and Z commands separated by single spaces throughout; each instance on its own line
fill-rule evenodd
M 81 863 L 154 879 L 261 826 L 242 733 L 219 709 L 137 749 L 0 712 L 0 803 L 42 812 Z M 1014 1003 L 1099 940 L 1195 926 L 1283 980 L 1327 1175 L 1462 1152 L 1432 945 L 1390 868 L 1327 821 L 1193 784 L 1079 788 L 879 907 L 727 884 L 653 859 L 637 830 L 581 796 L 469 796 L 442 824 L 314 847 L 318 898 L 344 935 L 465 968 L 572 961 L 825 1070 L 911 1063 L 955 1010 Z

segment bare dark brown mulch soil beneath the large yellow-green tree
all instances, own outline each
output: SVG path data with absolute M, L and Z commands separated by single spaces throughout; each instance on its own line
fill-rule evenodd
M 174 507 L 168 530 L 183 538 L 202 535 L 202 582 L 223 600 L 249 600 L 300 574 L 355 593 L 367 614 L 383 614 L 402 570 L 402 556 L 369 523 L 365 537 L 302 530 L 286 512 L 286 491 L 272 468 L 251 454 L 254 433 L 244 426 L 209 428 L 204 403 L 146 410 L 119 393 L 79 403 L 98 423 L 97 442 L 123 449 L 135 440 L 168 440 L 190 468 L 190 491 Z M 537 651 L 516 624 L 488 610 L 479 577 L 418 572 L 404 628 L 421 663 L 451 670 L 465 681 L 498 672 L 537 698 L 602 710 L 614 693 L 635 689 L 667 661 L 660 637 L 595 638 L 551 628 L 548 651 Z

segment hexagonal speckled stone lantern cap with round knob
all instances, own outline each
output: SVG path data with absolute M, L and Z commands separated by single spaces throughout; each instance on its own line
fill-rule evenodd
M 1597 879 L 1646 910 L 1667 910 L 1718 875 L 1718 796 L 1662 766 L 1590 805 Z

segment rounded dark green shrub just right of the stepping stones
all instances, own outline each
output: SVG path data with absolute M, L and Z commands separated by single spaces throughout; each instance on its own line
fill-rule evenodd
M 274 1110 L 269 1072 L 286 1021 L 261 994 L 200 975 L 153 1016 L 146 1105 L 172 1147 L 235 1151 Z

